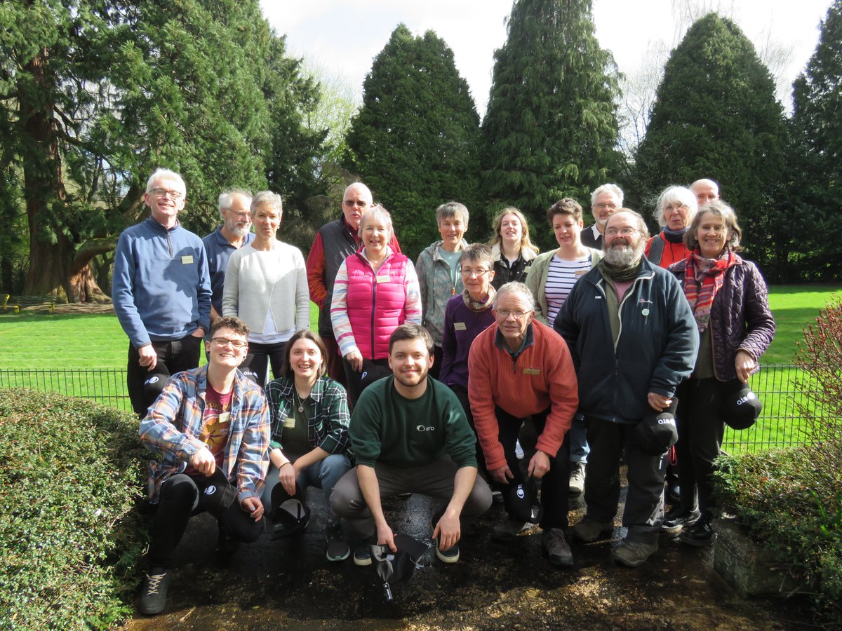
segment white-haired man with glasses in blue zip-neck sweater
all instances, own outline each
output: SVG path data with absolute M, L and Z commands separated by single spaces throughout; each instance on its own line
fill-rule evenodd
M 151 216 L 120 234 L 111 298 L 129 337 L 126 381 L 131 406 L 146 416 L 143 382 L 159 361 L 170 374 L 199 366 L 210 328 L 210 275 L 201 239 L 179 224 L 187 189 L 178 173 L 158 169 L 143 201 Z

